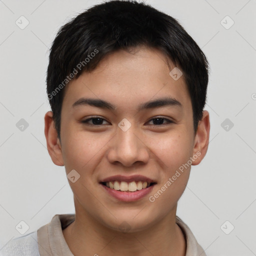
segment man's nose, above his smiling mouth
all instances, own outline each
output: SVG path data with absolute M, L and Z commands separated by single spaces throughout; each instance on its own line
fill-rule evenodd
M 145 164 L 148 161 L 149 148 L 146 145 L 145 136 L 133 127 L 134 125 L 131 125 L 126 131 L 117 127 L 107 154 L 109 162 L 128 167 L 138 162 Z

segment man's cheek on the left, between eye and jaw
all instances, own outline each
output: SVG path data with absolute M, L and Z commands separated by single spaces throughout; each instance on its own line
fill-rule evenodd
M 95 134 L 90 135 L 87 132 L 74 131 L 66 129 L 65 139 L 63 140 L 63 158 L 65 162 L 66 174 L 71 170 L 78 172 L 79 178 L 75 182 L 68 180 L 69 185 L 80 203 L 86 197 L 86 201 L 91 200 L 91 194 L 96 180 L 95 168 L 102 157 L 102 146 L 109 140 L 96 139 Z M 64 130 L 63 130 L 64 133 Z M 105 141 L 106 140 L 106 141 Z

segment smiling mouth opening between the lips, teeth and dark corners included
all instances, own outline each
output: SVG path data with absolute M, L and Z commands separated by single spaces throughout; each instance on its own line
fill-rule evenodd
M 132 181 L 122 181 L 122 180 L 111 180 L 100 182 L 102 185 L 109 187 L 111 189 L 123 192 L 135 192 L 138 190 L 146 189 L 149 186 L 153 186 L 156 182 L 148 182 L 146 180 L 132 180 Z

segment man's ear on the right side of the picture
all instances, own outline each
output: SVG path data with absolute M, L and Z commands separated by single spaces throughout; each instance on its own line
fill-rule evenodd
M 209 112 L 203 110 L 202 119 L 198 122 L 198 127 L 196 135 L 194 138 L 194 147 L 193 147 L 193 158 L 194 161 L 192 165 L 197 165 L 201 162 L 205 156 L 208 143 L 209 143 L 209 132 L 210 132 L 210 121 L 209 121 Z M 197 158 L 195 159 L 195 156 Z

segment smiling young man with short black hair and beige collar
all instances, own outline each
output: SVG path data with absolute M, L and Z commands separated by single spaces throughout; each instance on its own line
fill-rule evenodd
M 207 151 L 207 82 L 194 40 L 144 3 L 98 4 L 61 27 L 44 131 L 75 214 L 56 214 L 1 255 L 205 255 L 176 207 Z

